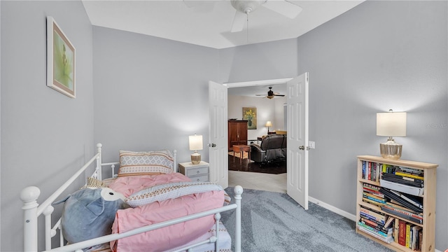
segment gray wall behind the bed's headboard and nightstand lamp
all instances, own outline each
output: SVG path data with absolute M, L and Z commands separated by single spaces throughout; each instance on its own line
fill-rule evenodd
M 202 134 L 209 159 L 209 80 L 218 50 L 94 27 L 94 141 L 104 160 L 118 151 L 160 148 L 190 160 L 188 136 Z

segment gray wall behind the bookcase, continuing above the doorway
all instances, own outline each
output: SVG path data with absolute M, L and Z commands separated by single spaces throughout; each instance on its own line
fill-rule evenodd
M 309 195 L 351 214 L 356 155 L 379 155 L 386 140 L 376 136 L 376 113 L 407 111 L 407 137 L 396 141 L 403 160 L 440 165 L 436 248 L 444 250 L 447 29 L 446 1 L 367 1 L 295 40 L 221 50 L 221 80 L 309 72 Z

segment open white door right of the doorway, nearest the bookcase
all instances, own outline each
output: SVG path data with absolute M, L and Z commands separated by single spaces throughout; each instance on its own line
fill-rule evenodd
M 308 209 L 308 73 L 288 83 L 286 99 L 288 122 L 287 185 L 290 197 Z

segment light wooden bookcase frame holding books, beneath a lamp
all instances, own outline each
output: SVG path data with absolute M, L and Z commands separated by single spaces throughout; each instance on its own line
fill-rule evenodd
M 380 186 L 379 179 L 381 177 L 381 172 L 377 169 L 376 181 L 371 181 L 368 179 L 363 179 L 363 161 L 367 162 L 375 162 L 379 164 L 385 165 L 393 165 L 398 167 L 409 167 L 413 169 L 423 170 L 423 223 L 414 223 L 412 221 L 408 221 L 404 218 L 400 218 L 399 216 L 395 216 L 393 214 L 388 214 L 385 211 L 381 210 L 381 207 L 377 207 L 374 204 L 369 204 L 367 202 L 363 202 L 363 184 L 368 183 L 373 186 Z M 367 207 L 381 213 L 386 214 L 387 216 L 393 216 L 394 218 L 399 218 L 401 220 L 406 221 L 407 223 L 411 223 L 413 225 L 421 226 L 423 236 L 422 236 L 422 244 L 421 251 L 429 252 L 435 251 L 435 191 L 436 191 L 436 168 L 438 165 L 424 163 L 424 162 L 414 162 L 407 160 L 388 160 L 381 157 L 371 156 L 371 155 L 359 155 L 358 156 L 358 177 L 357 177 L 357 188 L 356 188 L 356 223 L 360 220 L 360 207 Z M 381 241 L 381 239 L 377 239 L 372 235 L 367 234 L 359 230 L 358 224 L 356 224 L 356 232 L 360 235 L 368 237 L 374 241 L 383 244 L 384 246 L 393 249 L 394 251 L 412 251 L 411 248 L 407 248 L 393 241 L 388 244 L 385 241 Z

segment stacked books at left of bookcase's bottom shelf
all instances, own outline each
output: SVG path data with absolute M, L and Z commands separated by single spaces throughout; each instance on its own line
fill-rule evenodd
M 372 209 L 360 207 L 360 219 L 357 223 L 358 230 L 390 244 L 394 241 L 393 219 L 393 217 L 386 216 Z

